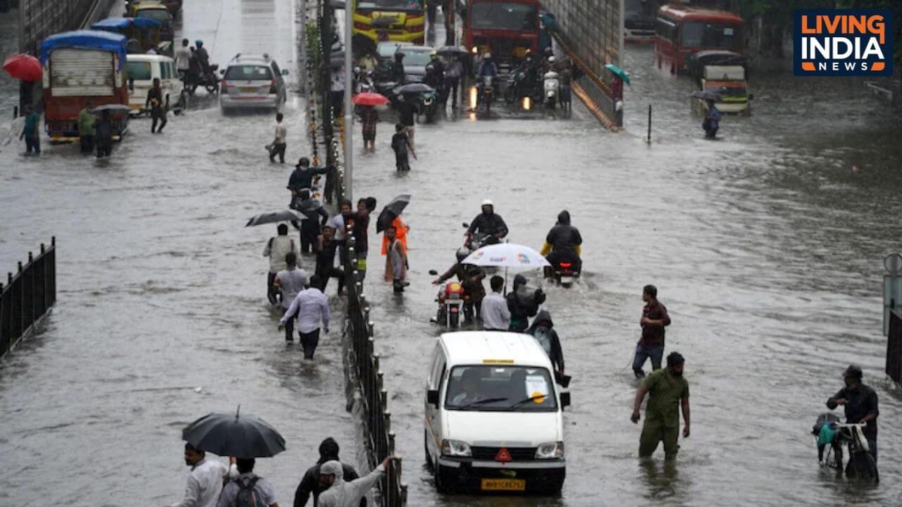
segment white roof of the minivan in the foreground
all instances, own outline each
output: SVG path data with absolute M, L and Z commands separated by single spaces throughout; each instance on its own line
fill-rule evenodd
M 458 331 L 438 338 L 448 366 L 456 364 L 523 364 L 545 366 L 548 355 L 532 336 L 502 331 Z

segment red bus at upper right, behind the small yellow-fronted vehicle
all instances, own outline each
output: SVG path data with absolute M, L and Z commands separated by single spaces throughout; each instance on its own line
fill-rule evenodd
M 742 53 L 742 18 L 738 14 L 686 5 L 663 5 L 655 20 L 655 63 L 672 74 L 686 70 L 686 55 L 724 50 Z

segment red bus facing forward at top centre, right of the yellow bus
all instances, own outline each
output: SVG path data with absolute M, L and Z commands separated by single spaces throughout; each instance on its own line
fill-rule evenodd
M 463 43 L 474 54 L 491 52 L 506 66 L 538 51 L 538 0 L 470 0 L 464 17 Z

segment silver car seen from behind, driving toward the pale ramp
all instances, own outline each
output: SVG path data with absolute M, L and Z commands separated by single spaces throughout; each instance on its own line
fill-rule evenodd
M 229 109 L 279 109 L 288 96 L 285 79 L 288 70 L 280 70 L 275 60 L 238 54 L 223 74 L 219 106 Z

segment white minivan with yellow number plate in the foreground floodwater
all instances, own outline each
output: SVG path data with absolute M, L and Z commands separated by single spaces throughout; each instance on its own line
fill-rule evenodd
M 446 333 L 426 383 L 426 460 L 439 492 L 557 493 L 564 407 L 551 362 L 529 335 Z

